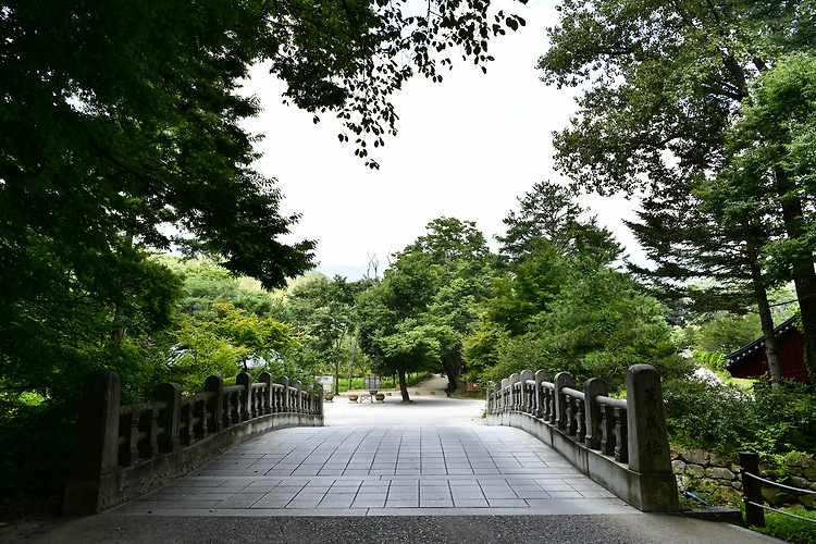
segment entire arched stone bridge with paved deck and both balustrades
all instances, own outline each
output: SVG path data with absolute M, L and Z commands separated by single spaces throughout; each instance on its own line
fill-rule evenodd
M 102 371 L 86 383 L 64 510 L 97 512 L 129 500 L 116 511 L 495 516 L 636 512 L 632 506 L 676 511 L 659 378 L 650 369 L 630 370 L 626 401 L 606 397 L 597 380 L 580 392 L 564 373 L 553 382 L 543 371 L 515 374 L 487 398 L 486 422 L 498 426 L 485 425 L 483 400 L 421 396 L 409 405 L 396 398 L 339 404 L 341 397 L 325 405 L 330 416 L 323 426 L 320 391 L 305 392 L 286 378 L 273 382 L 269 374 L 257 384 L 240 374 L 232 387 L 211 376 L 205 393 L 189 397 L 165 384 L 156 403 L 121 407 L 119 378 Z M 646 382 L 636 384 L 638 376 Z M 658 398 L 643 397 L 646 391 Z M 660 410 L 650 407 L 648 425 L 627 421 L 636 403 L 653 400 Z M 655 425 L 663 449 L 647 466 L 638 444 Z M 641 470 L 631 468 L 638 466 L 633 459 Z

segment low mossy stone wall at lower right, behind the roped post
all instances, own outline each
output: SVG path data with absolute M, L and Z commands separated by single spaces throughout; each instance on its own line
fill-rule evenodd
M 742 475 L 737 454 L 725 456 L 705 449 L 672 450 L 671 468 L 681 493 L 689 491 L 713 505 L 738 505 L 742 502 Z M 816 456 L 803 457 L 774 468 L 761 463 L 759 470 L 767 480 L 816 491 Z M 816 495 L 763 487 L 763 497 L 775 508 L 816 509 Z

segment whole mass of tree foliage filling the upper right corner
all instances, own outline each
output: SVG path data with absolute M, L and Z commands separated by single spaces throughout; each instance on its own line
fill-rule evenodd
M 816 3 L 566 0 L 560 13 L 540 67 L 547 83 L 583 92 L 577 119 L 555 135 L 557 168 L 585 190 L 642 190 L 630 226 L 657 265 L 639 272 L 672 297 L 691 295 L 690 279 L 715 277 L 695 302 L 756 304 L 769 344 L 767 290 L 793 277 L 816 357 L 803 190 L 813 156 L 813 33 L 803 22 Z

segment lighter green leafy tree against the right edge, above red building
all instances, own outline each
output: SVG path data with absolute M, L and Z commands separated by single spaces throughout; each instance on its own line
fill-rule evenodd
M 806 360 L 816 375 L 816 339 L 809 323 L 816 319 L 811 299 L 816 295 L 813 255 L 816 223 L 809 202 L 816 196 L 816 58 L 783 57 L 751 87 L 751 97 L 729 131 L 732 156 L 718 182 L 746 199 L 757 193 L 777 202 L 787 236 L 770 239 L 769 273 L 777 283 L 793 280 L 805 327 Z M 754 199 L 755 200 L 755 199 Z M 761 310 L 767 300 L 759 301 Z M 763 323 L 766 338 L 769 334 Z M 771 334 L 772 335 L 772 334 Z M 772 369 L 771 369 L 772 371 Z M 775 380 L 779 383 L 780 375 Z

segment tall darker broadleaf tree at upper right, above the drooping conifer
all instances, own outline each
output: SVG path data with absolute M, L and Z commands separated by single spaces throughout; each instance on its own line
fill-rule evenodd
M 647 206 L 658 207 L 665 195 L 692 195 L 731 160 L 728 134 L 751 100 L 752 81 L 776 70 L 787 51 L 807 48 L 813 32 L 802 23 L 815 13 L 812 1 L 565 1 L 540 67 L 548 83 L 589 88 L 579 99 L 580 119 L 555 137 L 557 166 L 585 189 L 644 190 Z M 776 147 L 786 131 L 766 131 L 762 139 Z M 801 239 L 803 195 L 792 190 L 790 173 L 774 174 L 765 196 L 776 198 L 775 224 Z M 792 258 L 813 358 L 816 273 L 809 255 Z

